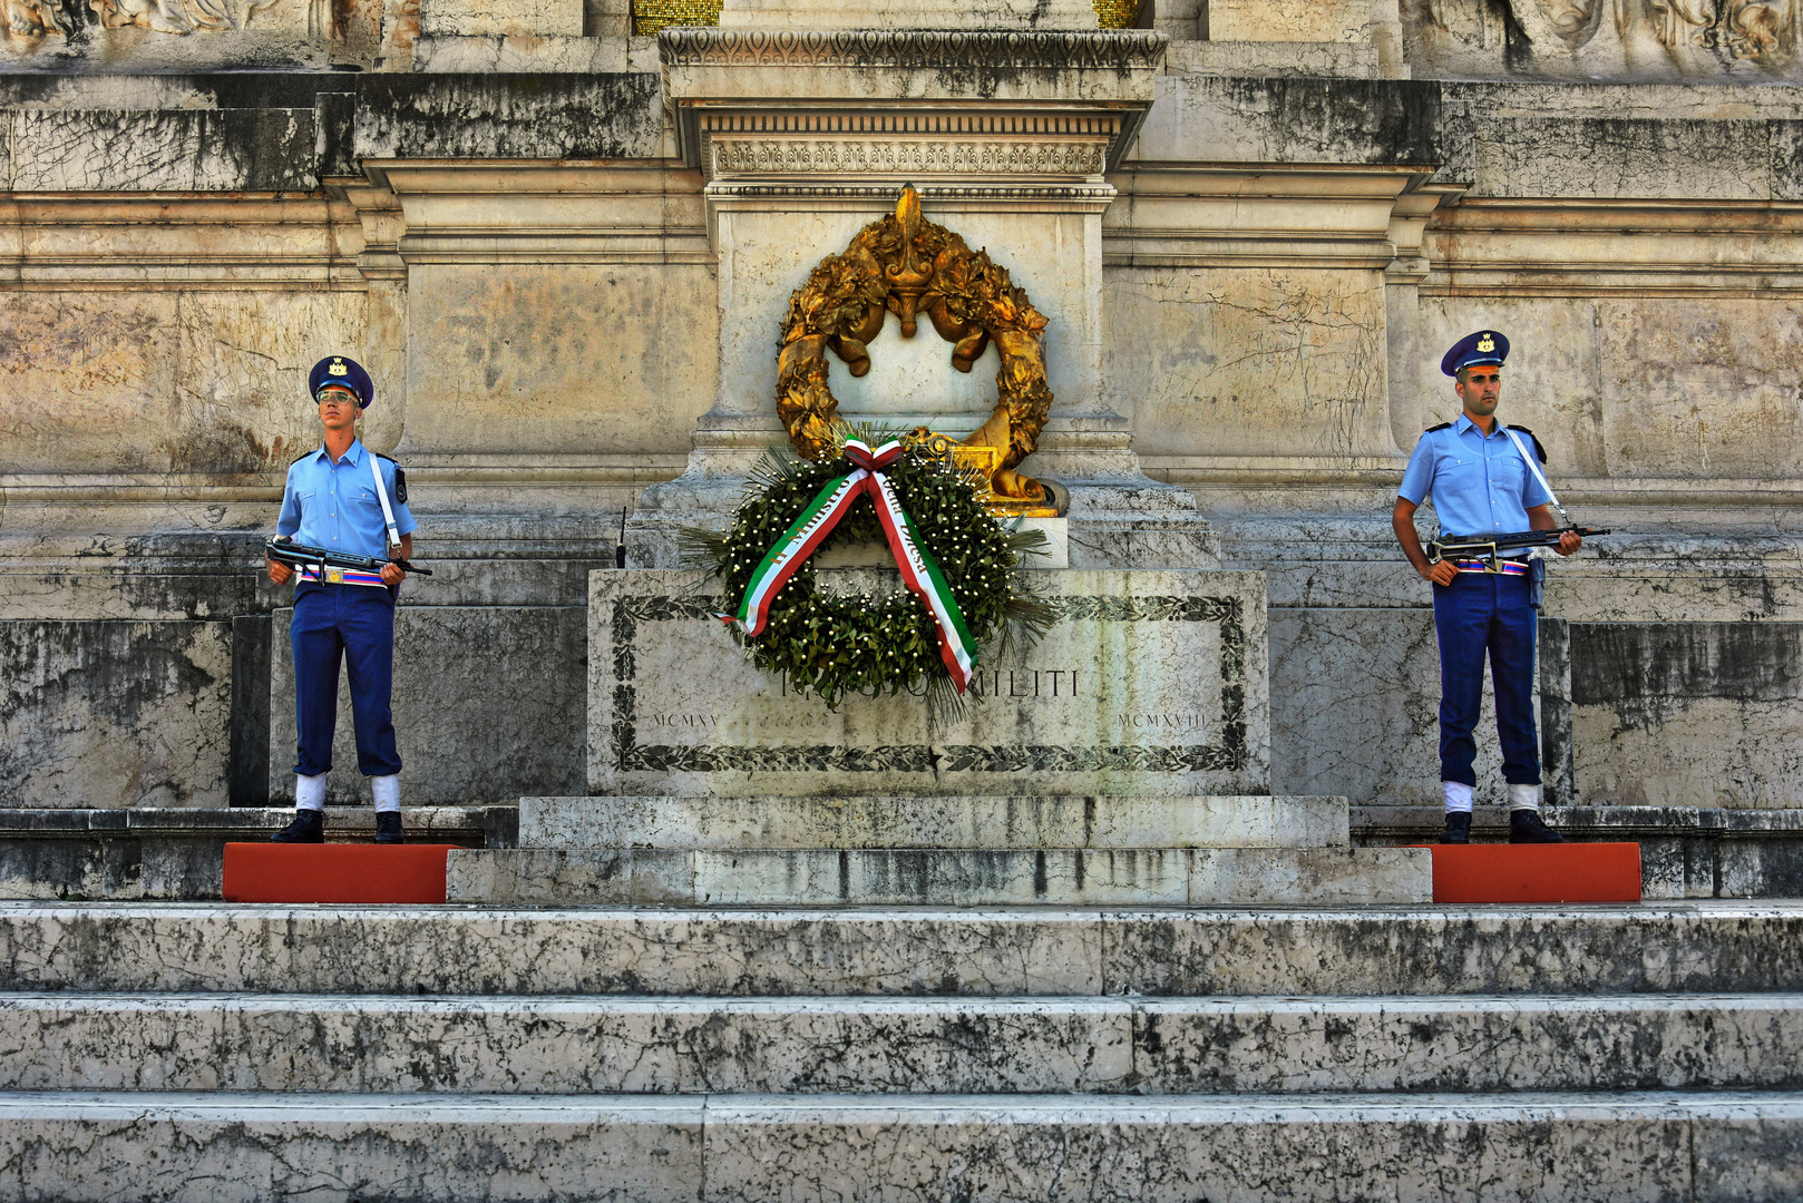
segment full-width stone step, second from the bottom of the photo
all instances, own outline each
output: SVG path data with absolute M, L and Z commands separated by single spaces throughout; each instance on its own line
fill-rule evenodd
M 1803 996 L 664 999 L 0 994 L 0 1089 L 1803 1089 Z

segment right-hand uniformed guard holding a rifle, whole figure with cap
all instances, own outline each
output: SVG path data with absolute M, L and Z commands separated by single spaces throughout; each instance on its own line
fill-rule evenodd
M 1441 644 L 1441 797 L 1446 804 L 1442 844 L 1471 839 L 1471 797 L 1477 774 L 1478 707 L 1484 702 L 1484 657 L 1496 685 L 1496 736 L 1502 777 L 1509 786 L 1509 842 L 1558 844 L 1558 831 L 1540 819 L 1540 738 L 1534 730 L 1534 638 L 1538 619 L 1531 575 L 1538 563 L 1428 563 L 1415 530 L 1415 509 L 1433 498 L 1442 537 L 1552 530 L 1552 494 L 1527 464 L 1545 462 L 1533 431 L 1496 420 L 1502 364 L 1509 339 L 1496 330 L 1469 334 L 1446 352 L 1441 372 L 1453 377 L 1464 411 L 1430 427 L 1408 458 L 1390 525 L 1423 579 L 1433 583 L 1433 631 Z M 1560 537 L 1560 556 L 1583 543 Z

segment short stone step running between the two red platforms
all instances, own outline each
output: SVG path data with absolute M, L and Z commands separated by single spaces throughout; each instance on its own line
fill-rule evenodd
M 1426 848 L 456 849 L 483 905 L 1396 905 L 1433 898 Z

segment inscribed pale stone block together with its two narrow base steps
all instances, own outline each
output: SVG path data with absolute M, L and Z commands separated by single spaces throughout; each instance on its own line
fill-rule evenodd
M 1273 797 L 1264 577 L 1022 574 L 1060 613 L 983 651 L 959 716 L 837 709 L 752 667 L 696 572 L 590 584 L 588 797 L 521 799 L 453 900 L 665 905 L 1424 902 L 1423 849 Z M 894 572 L 820 570 L 883 593 Z

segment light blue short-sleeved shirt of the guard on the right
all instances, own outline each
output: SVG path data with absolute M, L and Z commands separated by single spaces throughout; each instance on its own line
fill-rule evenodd
M 1533 435 L 1515 436 L 1534 455 Z M 1432 496 L 1442 537 L 1527 530 L 1527 510 L 1552 500 L 1502 433 L 1502 422 L 1486 436 L 1462 413 L 1446 429 L 1421 436 L 1396 492 L 1415 505 Z

